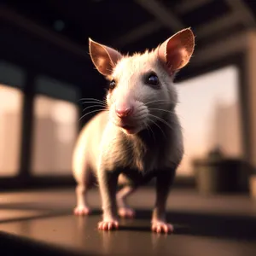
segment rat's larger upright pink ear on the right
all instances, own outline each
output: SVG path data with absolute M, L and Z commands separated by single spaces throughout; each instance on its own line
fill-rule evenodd
M 195 36 L 190 28 L 168 38 L 158 49 L 158 56 L 170 74 L 189 63 L 195 48 Z

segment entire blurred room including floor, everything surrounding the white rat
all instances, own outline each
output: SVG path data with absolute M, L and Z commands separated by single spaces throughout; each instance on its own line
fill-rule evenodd
M 104 236 L 99 215 L 73 215 L 73 147 L 95 114 L 80 119 L 81 99 L 102 100 L 107 85 L 88 38 L 132 53 L 186 27 L 195 52 L 175 79 L 185 155 L 167 204 L 176 233 L 151 236 L 149 186 L 131 196 L 137 219 Z M 2 0 L 0 38 L 1 252 L 47 254 L 15 234 L 88 255 L 256 255 L 256 1 Z

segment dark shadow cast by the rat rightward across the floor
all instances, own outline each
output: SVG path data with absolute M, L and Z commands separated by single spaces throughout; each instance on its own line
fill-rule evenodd
M 137 219 L 151 218 L 151 210 L 137 212 Z M 213 236 L 225 239 L 252 241 L 256 239 L 256 218 L 248 216 L 217 215 L 211 213 L 168 212 L 167 219 L 174 224 L 176 235 Z M 148 232 L 149 227 L 120 226 L 120 230 Z

